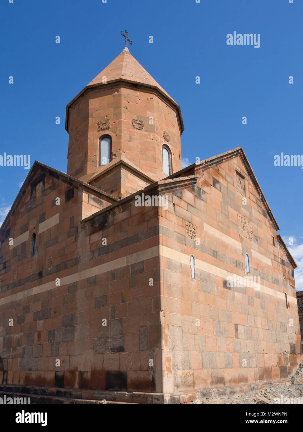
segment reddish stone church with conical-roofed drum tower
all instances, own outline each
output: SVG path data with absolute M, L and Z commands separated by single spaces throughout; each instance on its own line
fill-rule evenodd
M 241 147 L 182 169 L 183 129 L 128 48 L 67 105 L 67 174 L 35 162 L 0 228 L 0 392 L 188 403 L 296 371 L 254 172 Z

